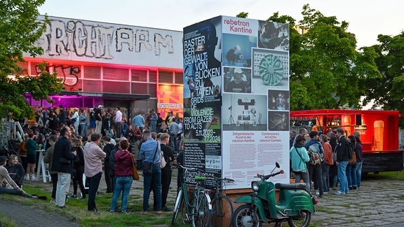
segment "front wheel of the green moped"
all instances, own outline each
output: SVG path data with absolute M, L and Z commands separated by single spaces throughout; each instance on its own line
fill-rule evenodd
M 248 204 L 238 207 L 231 216 L 231 225 L 233 227 L 260 227 L 260 215 L 255 206 Z

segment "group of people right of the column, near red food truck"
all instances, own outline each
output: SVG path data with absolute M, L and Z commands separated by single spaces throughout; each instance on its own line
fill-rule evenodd
M 314 152 L 319 154 L 318 162 L 314 160 Z M 290 161 L 295 181 L 306 183 L 307 190 L 314 189 L 320 198 L 331 189 L 335 195 L 345 195 L 361 187 L 363 153 L 358 132 L 346 137 L 342 128 L 326 134 L 308 133 L 306 128 L 300 128 L 298 135 L 290 131 Z

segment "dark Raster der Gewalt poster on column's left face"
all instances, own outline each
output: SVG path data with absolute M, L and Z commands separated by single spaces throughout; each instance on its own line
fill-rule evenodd
M 184 28 L 184 165 L 222 171 L 220 17 Z M 191 175 L 187 181 L 192 183 Z

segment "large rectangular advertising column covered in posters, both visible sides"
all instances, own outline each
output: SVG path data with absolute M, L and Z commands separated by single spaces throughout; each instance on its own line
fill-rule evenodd
M 184 28 L 185 165 L 249 188 L 289 182 L 289 25 L 220 16 Z M 189 178 L 191 179 L 191 177 Z

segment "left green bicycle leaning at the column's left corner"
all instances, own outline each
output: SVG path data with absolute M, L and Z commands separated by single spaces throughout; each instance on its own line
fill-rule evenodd
M 184 224 L 191 222 L 193 227 L 208 226 L 212 203 L 210 201 L 209 190 L 201 186 L 201 182 L 205 181 L 206 177 L 195 176 L 196 185 L 193 189 L 188 190 L 186 182 L 187 173 L 189 171 L 196 171 L 197 169 L 183 167 L 182 165 L 178 165 L 178 167 L 184 169 L 184 179 L 175 199 L 171 224 L 175 225 L 180 213 L 182 223 Z

